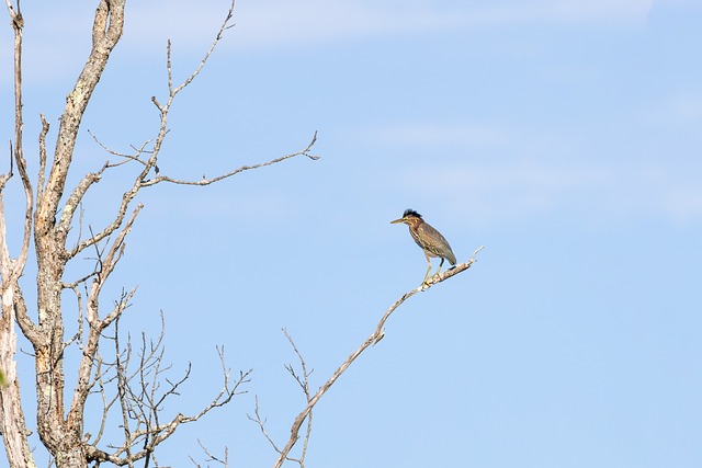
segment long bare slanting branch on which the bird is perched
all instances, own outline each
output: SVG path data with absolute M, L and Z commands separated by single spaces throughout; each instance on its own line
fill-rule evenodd
M 293 446 L 295 445 L 295 443 L 299 438 L 299 430 L 301 430 L 303 423 L 305 422 L 305 420 L 310 416 L 312 410 L 315 407 L 315 404 L 317 404 L 319 399 L 321 399 L 321 397 L 327 392 L 327 390 L 329 390 L 329 388 L 337 381 L 337 379 L 339 377 L 341 377 L 341 375 L 346 372 L 346 369 L 349 368 L 349 366 L 356 359 L 356 357 L 359 357 L 361 355 L 361 353 L 363 353 L 366 349 L 369 349 L 370 346 L 372 346 L 373 344 L 377 343 L 378 341 L 381 341 L 383 339 L 383 336 L 385 335 L 385 329 L 384 329 L 385 322 L 387 321 L 387 319 L 389 319 L 390 315 L 405 300 L 407 300 L 408 298 L 410 298 L 415 294 L 417 294 L 417 293 L 419 293 L 421 290 L 427 290 L 430 287 L 432 287 L 433 285 L 435 285 L 438 283 L 442 283 L 443 281 L 449 279 L 450 277 L 455 276 L 458 273 L 462 273 L 462 272 L 468 270 L 477 261 L 476 255 L 480 250 L 483 250 L 483 247 L 478 248 L 475 252 L 473 252 L 473 255 L 471 256 L 471 259 L 467 262 L 460 263 L 460 264 L 455 265 L 454 267 L 452 267 L 452 269 L 450 269 L 450 270 L 448 270 L 448 271 L 445 271 L 445 272 L 443 272 L 441 274 L 438 274 L 438 275 L 434 275 L 434 276 L 428 278 L 428 281 L 426 283 L 423 283 L 422 285 L 420 285 L 419 287 L 416 287 L 415 289 L 404 294 L 399 299 L 397 299 L 387 309 L 387 311 L 381 318 L 381 321 L 378 322 L 377 327 L 375 328 L 375 331 L 353 353 L 351 353 L 351 355 L 349 355 L 349 357 L 347 357 L 347 359 L 339 366 L 339 368 L 337 368 L 337 370 L 335 370 L 335 373 L 331 375 L 331 377 L 329 377 L 329 379 L 321 387 L 319 387 L 317 392 L 312 397 L 312 399 L 308 400 L 307 406 L 305 407 L 305 409 L 297 415 L 297 418 L 295 418 L 295 421 L 293 422 L 293 425 L 292 425 L 291 431 L 290 431 L 291 432 L 291 436 L 290 436 L 287 443 L 285 444 L 285 446 L 281 450 L 276 450 L 276 452 L 279 452 L 279 457 L 275 460 L 275 463 L 273 464 L 274 468 L 280 468 L 285 460 L 290 460 L 288 455 L 290 455 L 291 449 L 293 448 Z

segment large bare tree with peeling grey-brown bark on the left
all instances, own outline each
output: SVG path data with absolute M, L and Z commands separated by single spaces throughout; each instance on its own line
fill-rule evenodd
M 139 215 L 141 205 L 136 202 L 140 191 L 160 183 L 208 185 L 249 169 L 274 164 L 296 156 L 310 159 L 315 144 L 301 151 L 267 162 L 245 165 L 212 179 L 179 180 L 160 173 L 157 161 L 167 137 L 167 123 L 177 95 L 201 72 L 210 55 L 230 27 L 234 1 L 219 27 L 211 48 L 199 66 L 182 83 L 174 84 L 171 73 L 171 47 L 167 46 L 168 95 L 152 103 L 160 115 L 160 125 L 152 140 L 135 147 L 132 153 L 121 153 L 105 148 L 117 162 L 105 162 L 94 172 L 87 173 L 75 186 L 67 186 L 67 174 L 72 163 L 78 130 L 91 96 L 107 65 L 111 53 L 122 37 L 126 0 L 99 0 L 92 26 L 92 47 L 86 64 L 66 100 L 60 116 L 53 157 L 47 152 L 49 124 L 42 115 L 38 135 L 38 174 L 30 178 L 23 151 L 22 112 L 22 32 L 24 20 L 20 1 L 7 0 L 7 9 L 14 31 L 14 137 L 10 144 L 10 164 L 0 175 L 0 369 L 3 385 L 0 387 L 0 429 L 7 457 L 11 467 L 33 467 L 35 461 L 27 442 L 25 414 L 21 406 L 20 379 L 14 354 L 18 350 L 16 327 L 33 347 L 36 372 L 36 402 L 38 436 L 50 453 L 57 467 L 86 467 L 89 463 L 103 461 L 118 466 L 157 465 L 156 447 L 171 436 L 184 423 L 197 421 L 208 411 L 222 407 L 241 390 L 248 381 L 248 373 L 235 379 L 223 362 L 223 387 L 210 403 L 195 414 L 178 413 L 171 418 L 161 414 L 163 401 L 176 395 L 188 379 L 189 370 L 176 380 L 166 377 L 161 340 L 149 341 L 145 336 L 138 351 L 120 336 L 120 318 L 127 309 L 134 290 L 126 290 L 106 308 L 101 294 L 124 254 L 125 239 Z M 83 197 L 111 169 L 129 164 L 133 176 L 127 181 L 124 194 L 116 203 L 112 219 L 100 229 L 80 232 L 78 239 L 68 240 L 71 228 L 80 228 L 80 206 Z M 9 246 L 5 209 L 2 205 L 4 189 L 19 173 L 25 195 L 22 241 L 19 254 L 12 256 Z M 36 255 L 36 309 L 26 301 L 20 285 L 34 241 Z M 67 279 L 67 267 L 81 253 L 95 258 L 94 270 L 77 279 Z M 66 336 L 66 320 L 71 317 L 63 310 L 61 297 L 68 292 L 76 297 L 78 332 Z M 162 338 L 162 335 L 161 335 Z M 109 344 L 112 343 L 107 356 Z M 105 346 L 107 344 L 107 346 Z M 78 362 L 77 378 L 66 380 L 65 355 L 71 353 Z M 72 373 L 71 373 L 72 374 Z M 165 384 L 163 384 L 165 383 Z M 29 383 L 24 383 L 27 385 Z M 84 429 L 86 406 L 89 397 L 102 401 L 102 424 L 94 432 Z M 109 416 L 116 414 L 123 431 L 122 442 L 103 442 Z

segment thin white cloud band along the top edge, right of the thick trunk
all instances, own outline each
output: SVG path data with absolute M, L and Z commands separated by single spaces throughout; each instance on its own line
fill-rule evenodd
M 643 24 L 653 0 L 506 0 L 471 4 L 456 0 L 257 0 L 236 7 L 236 39 L 227 47 L 290 48 L 358 41 L 373 36 L 421 34 L 458 27 L 526 23 L 615 22 Z M 226 0 L 158 0 L 131 8 L 131 46 L 208 41 L 227 10 Z

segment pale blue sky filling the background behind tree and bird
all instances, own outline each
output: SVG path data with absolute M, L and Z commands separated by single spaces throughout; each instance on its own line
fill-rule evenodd
M 22 3 L 32 168 L 38 114 L 53 141 L 95 3 Z M 228 7 L 127 5 L 69 182 L 111 159 L 89 129 L 121 151 L 156 136 L 167 38 L 180 82 Z M 162 445 L 162 465 L 206 465 L 197 438 L 227 446 L 231 467 L 273 464 L 246 414 L 258 396 L 284 445 L 304 407 L 281 329 L 316 389 L 421 282 L 420 249 L 389 225 L 411 207 L 460 262 L 485 249 L 403 305 L 325 396 L 308 467 L 702 466 L 702 2 L 239 0 L 235 22 L 172 109 L 161 173 L 212 176 L 295 152 L 315 130 L 321 159 L 141 193 L 103 307 L 138 286 L 122 326 L 134 339 L 158 335 L 163 311 L 171 376 L 193 365 L 165 414 L 219 390 L 216 345 L 235 373 L 253 369 L 248 393 Z M 112 216 L 128 173 L 94 187 L 86 225 Z M 92 267 L 81 259 L 67 279 Z M 18 359 L 30 408 L 33 364 Z

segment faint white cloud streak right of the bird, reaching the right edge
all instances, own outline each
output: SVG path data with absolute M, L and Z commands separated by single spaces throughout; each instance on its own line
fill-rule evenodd
M 416 168 L 405 173 L 404 183 L 427 190 L 476 224 L 552 219 L 567 213 L 598 225 L 639 217 L 700 220 L 702 186 L 693 179 L 665 164 L 506 159 Z M 428 180 L 434 183 L 427 186 Z

